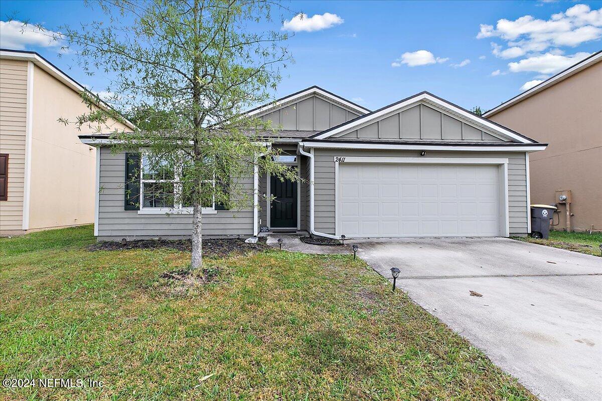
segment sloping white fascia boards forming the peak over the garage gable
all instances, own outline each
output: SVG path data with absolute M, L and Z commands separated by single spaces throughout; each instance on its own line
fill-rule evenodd
M 497 124 L 494 124 L 491 121 L 486 120 L 485 118 L 474 118 L 474 115 L 472 113 L 464 111 L 461 108 L 459 108 L 458 106 L 452 105 L 452 103 L 442 102 L 441 100 L 437 99 L 434 96 L 431 96 L 428 93 L 419 94 L 417 96 L 414 96 L 414 97 L 411 97 L 411 98 L 405 100 L 404 102 L 400 102 L 400 103 L 391 105 L 391 106 L 389 106 L 385 109 L 382 109 L 378 112 L 375 112 L 373 114 L 356 118 L 355 120 L 350 121 L 347 124 L 341 125 L 335 129 L 329 130 L 328 132 L 324 132 L 318 136 L 315 136 L 314 139 L 325 139 L 325 138 L 328 138 L 329 136 L 337 135 L 338 133 L 351 131 L 351 130 L 353 130 L 354 127 L 360 126 L 361 124 L 364 124 L 367 121 L 378 120 L 380 117 L 383 117 L 386 114 L 396 112 L 400 109 L 406 108 L 407 106 L 413 105 L 414 103 L 418 103 L 420 101 L 433 103 L 435 105 L 441 106 L 444 109 L 449 109 L 449 110 L 455 112 L 456 114 L 460 115 L 461 117 L 464 117 L 469 121 L 473 121 L 473 123 L 475 123 L 475 124 L 487 127 L 488 129 L 492 130 L 493 132 L 501 133 L 502 135 L 512 138 L 515 141 L 518 141 L 518 142 L 521 142 L 524 144 L 533 143 L 529 139 L 523 138 L 523 136 L 517 135 L 516 133 L 514 133 L 510 130 L 504 129 L 503 127 L 498 126 Z

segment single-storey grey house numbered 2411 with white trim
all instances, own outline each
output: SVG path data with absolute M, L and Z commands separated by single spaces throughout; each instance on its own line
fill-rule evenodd
M 263 227 L 333 238 L 530 231 L 527 158 L 546 145 L 430 93 L 369 111 L 311 87 L 249 113 L 278 127 L 264 135 L 305 182 L 256 171 L 244 184 L 257 207 L 203 209 L 208 237 L 256 236 Z M 98 155 L 99 240 L 190 236 L 190 210 L 152 207 L 144 180 L 126 188 L 131 154 L 111 152 L 108 135 L 80 138 Z M 140 198 L 132 203 L 126 191 Z

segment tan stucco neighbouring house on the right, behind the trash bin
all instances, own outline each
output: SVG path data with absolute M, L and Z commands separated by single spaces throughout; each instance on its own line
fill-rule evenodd
M 557 230 L 602 231 L 600 61 L 602 51 L 483 114 L 550 144 L 529 158 L 531 202 L 558 204 Z

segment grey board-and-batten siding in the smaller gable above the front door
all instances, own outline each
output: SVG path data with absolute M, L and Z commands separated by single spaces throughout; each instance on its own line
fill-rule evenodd
M 301 131 L 329 129 L 356 117 L 357 112 L 315 94 L 261 115 L 264 121 L 272 121 L 274 129 Z

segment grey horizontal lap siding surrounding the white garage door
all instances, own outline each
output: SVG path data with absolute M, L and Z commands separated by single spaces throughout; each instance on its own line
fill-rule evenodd
M 508 159 L 508 215 L 510 235 L 527 231 L 527 171 L 522 152 L 442 152 L 428 151 L 429 158 Z M 314 213 L 315 230 L 335 235 L 335 156 L 368 156 L 374 162 L 384 157 L 415 158 L 419 152 L 389 150 L 343 150 L 315 148 Z

